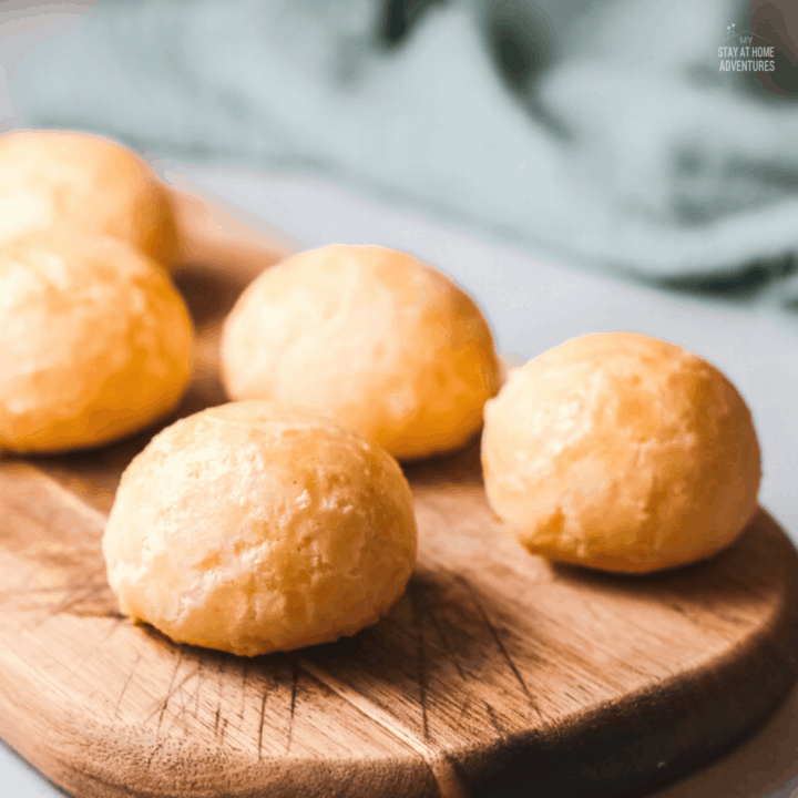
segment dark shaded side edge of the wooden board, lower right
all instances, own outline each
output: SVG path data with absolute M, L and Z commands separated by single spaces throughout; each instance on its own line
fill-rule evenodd
M 798 683 L 798 552 L 773 516 L 760 510 L 760 518 L 780 536 L 791 576 L 766 627 L 723 658 L 566 718 L 559 727 L 453 754 L 454 773 L 471 786 L 469 798 L 525 798 L 530 785 L 535 798 L 648 795 L 760 728 Z M 745 706 L 729 700 L 740 694 L 747 697 Z M 699 697 L 703 715 L 716 718 L 710 736 L 690 726 Z M 654 734 L 652 717 L 658 719 Z

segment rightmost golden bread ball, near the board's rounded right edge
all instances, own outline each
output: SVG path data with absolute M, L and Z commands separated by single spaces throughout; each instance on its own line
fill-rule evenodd
M 710 556 L 757 509 L 746 403 L 665 341 L 602 332 L 510 371 L 485 408 L 485 491 L 534 554 L 647 572 Z

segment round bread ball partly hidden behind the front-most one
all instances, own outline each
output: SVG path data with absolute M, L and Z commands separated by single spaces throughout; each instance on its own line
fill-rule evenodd
M 500 379 L 472 299 L 377 246 L 326 246 L 264 272 L 223 327 L 221 361 L 231 398 L 317 409 L 399 459 L 463 446 Z

